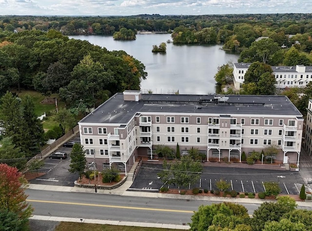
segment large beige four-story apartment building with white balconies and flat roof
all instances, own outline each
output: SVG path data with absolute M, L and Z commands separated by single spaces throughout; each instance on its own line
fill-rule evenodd
M 241 160 L 276 144 L 273 158 L 298 164 L 303 117 L 286 96 L 157 95 L 125 91 L 79 121 L 88 163 L 126 173 L 156 145 L 181 154 L 198 148 L 206 160 Z M 269 156 L 268 156 L 269 157 Z

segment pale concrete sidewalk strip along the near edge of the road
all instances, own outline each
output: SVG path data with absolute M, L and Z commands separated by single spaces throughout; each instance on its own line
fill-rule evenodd
M 101 224 L 101 225 L 121 225 L 121 226 L 153 227 L 153 228 L 155 227 L 155 228 L 176 229 L 176 230 L 189 230 L 190 229 L 190 226 L 188 225 L 99 220 L 99 219 L 80 219 L 80 218 L 74 218 L 74 217 L 59 217 L 59 216 L 33 215 L 29 219 L 41 220 L 41 221 L 78 222 L 78 223 Z

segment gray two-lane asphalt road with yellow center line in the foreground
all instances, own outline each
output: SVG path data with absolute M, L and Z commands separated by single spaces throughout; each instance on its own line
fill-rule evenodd
M 27 189 L 34 215 L 178 224 L 191 222 L 193 211 L 213 202 L 129 197 L 95 193 L 65 193 Z M 253 214 L 258 204 L 242 204 Z M 311 208 L 303 208 L 308 209 Z

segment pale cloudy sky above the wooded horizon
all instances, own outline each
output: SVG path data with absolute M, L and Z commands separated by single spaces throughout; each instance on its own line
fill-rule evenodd
M 0 15 L 312 13 L 311 0 L 0 0 Z

